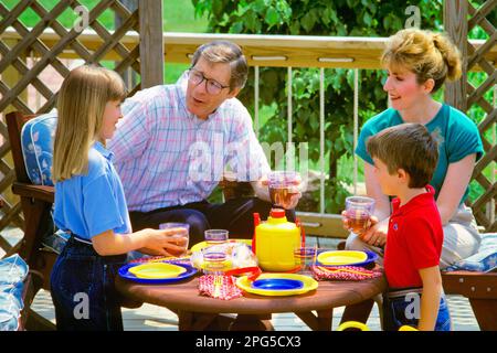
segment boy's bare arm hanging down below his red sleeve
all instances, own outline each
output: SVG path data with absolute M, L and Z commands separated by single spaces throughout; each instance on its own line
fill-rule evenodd
M 423 292 L 421 296 L 421 310 L 417 330 L 433 331 L 438 315 L 440 298 L 442 296 L 442 277 L 440 267 L 433 266 L 420 269 L 423 281 Z

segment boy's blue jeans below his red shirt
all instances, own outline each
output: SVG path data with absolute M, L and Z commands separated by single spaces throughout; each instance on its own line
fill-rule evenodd
M 408 288 L 401 290 L 391 289 L 389 292 L 383 295 L 384 331 L 398 331 L 402 325 L 417 328 L 420 312 L 420 288 Z M 442 295 L 440 300 L 438 315 L 436 318 L 434 331 L 451 331 L 451 314 L 448 312 L 448 306 L 444 295 Z

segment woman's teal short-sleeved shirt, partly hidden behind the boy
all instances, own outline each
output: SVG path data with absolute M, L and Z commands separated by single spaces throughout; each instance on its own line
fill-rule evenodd
M 356 154 L 366 162 L 373 164 L 371 156 L 366 149 L 366 142 L 369 137 L 380 132 L 392 126 L 403 124 L 399 111 L 389 108 L 379 115 L 369 119 L 361 129 L 359 135 Z M 475 122 L 470 120 L 464 113 L 457 110 L 450 105 L 443 104 L 435 117 L 425 124 L 430 132 L 437 131 L 438 141 L 438 163 L 430 184 L 435 189 L 435 199 L 447 173 L 448 164 L 455 163 L 468 154 L 476 153 L 476 160 L 482 158 L 484 153 L 482 138 Z M 469 193 L 469 186 L 461 200 L 463 203 Z

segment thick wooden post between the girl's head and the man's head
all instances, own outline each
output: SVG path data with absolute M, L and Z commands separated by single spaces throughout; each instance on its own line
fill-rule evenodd
M 163 84 L 162 0 L 139 0 L 141 89 Z

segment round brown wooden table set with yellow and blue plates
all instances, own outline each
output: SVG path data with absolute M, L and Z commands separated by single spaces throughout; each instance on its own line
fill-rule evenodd
M 116 287 L 129 299 L 176 312 L 180 331 L 271 330 L 271 315 L 276 312 L 294 312 L 311 330 L 330 331 L 334 308 L 371 302 L 387 286 L 383 276 L 362 281 L 324 280 L 316 290 L 299 296 L 265 297 L 244 292 L 241 298 L 221 300 L 199 293 L 199 276 L 168 285 L 141 285 L 117 277 Z

